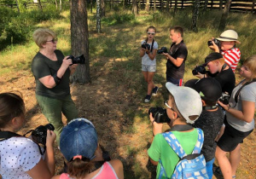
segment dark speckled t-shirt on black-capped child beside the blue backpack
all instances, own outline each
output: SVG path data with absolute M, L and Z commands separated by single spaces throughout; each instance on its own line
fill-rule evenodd
M 200 128 L 204 131 L 204 144 L 201 149 L 201 153 L 204 154 L 206 161 L 210 161 L 215 157 L 215 151 L 217 144 L 214 141 L 218 132 L 224 123 L 224 113 L 220 107 L 217 111 L 209 112 L 203 110 L 200 117 L 195 121 L 193 126 L 195 128 Z

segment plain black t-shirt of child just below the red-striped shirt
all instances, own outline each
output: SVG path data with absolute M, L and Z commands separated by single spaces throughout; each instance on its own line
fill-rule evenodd
M 229 69 L 219 72 L 214 78 L 221 85 L 222 92 L 228 92 L 231 95 L 236 86 L 236 77 L 232 69 L 229 67 Z

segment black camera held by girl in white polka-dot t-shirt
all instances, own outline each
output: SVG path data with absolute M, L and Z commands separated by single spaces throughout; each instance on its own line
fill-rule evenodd
M 32 130 L 32 139 L 37 143 L 41 143 L 45 146 L 47 130 L 55 130 L 55 127 L 52 124 L 39 125 L 35 130 Z

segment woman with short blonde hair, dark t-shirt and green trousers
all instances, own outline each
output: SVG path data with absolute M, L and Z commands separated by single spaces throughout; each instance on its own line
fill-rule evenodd
M 61 113 L 67 121 L 78 117 L 78 110 L 70 95 L 69 76 L 75 71 L 77 64 L 64 57 L 56 49 L 55 32 L 39 28 L 33 33 L 35 43 L 39 47 L 38 54 L 32 61 L 32 73 L 36 80 L 36 98 L 42 113 L 53 124 L 56 140 L 59 143 L 63 128 Z

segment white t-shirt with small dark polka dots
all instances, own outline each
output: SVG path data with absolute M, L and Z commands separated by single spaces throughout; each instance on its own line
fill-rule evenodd
M 40 159 L 38 145 L 26 137 L 0 141 L 0 174 L 3 179 L 32 178 L 26 171 L 36 166 Z

